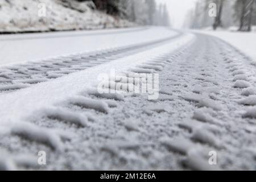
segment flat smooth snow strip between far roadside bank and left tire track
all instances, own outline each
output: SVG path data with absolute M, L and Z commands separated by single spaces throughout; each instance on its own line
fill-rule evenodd
M 56 56 L 60 59 L 60 55 L 132 46 L 175 35 L 177 32 L 163 27 L 0 35 L 0 65 L 48 60 Z M 52 77 L 59 75 L 50 73 L 49 78 Z

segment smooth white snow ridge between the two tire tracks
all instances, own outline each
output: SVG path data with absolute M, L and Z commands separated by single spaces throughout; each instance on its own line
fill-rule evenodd
M 191 40 L 193 40 L 193 35 L 186 34 L 169 44 L 142 51 L 137 55 L 128 56 L 125 59 L 117 59 L 110 63 L 88 68 L 84 71 L 72 73 L 71 75 L 55 80 L 42 82 L 30 88 L 20 90 L 20 92 L 1 94 L 0 105 L 2 109 L 0 111 L 0 123 L 7 123 L 7 121 L 18 122 L 26 118 L 28 113 L 33 113 L 41 107 L 54 105 L 57 102 L 65 100 L 67 97 L 72 97 L 79 92 L 92 88 L 93 85 L 97 84 L 97 77 L 100 73 L 110 71 L 111 69 L 118 70 L 119 72 L 126 71 L 133 64 L 135 66 L 138 63 L 143 63 L 147 57 L 154 56 L 155 52 L 169 52 L 170 50 L 180 48 Z M 74 85 L 76 86 L 74 87 Z M 81 106 L 98 108 L 98 110 L 108 113 L 108 105 L 103 102 L 98 103 L 97 101 L 81 99 L 78 96 L 70 98 L 69 101 L 75 104 L 81 104 Z M 15 115 L 11 114 L 14 112 Z

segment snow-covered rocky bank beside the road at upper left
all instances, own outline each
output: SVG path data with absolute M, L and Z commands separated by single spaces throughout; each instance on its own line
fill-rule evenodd
M 85 30 L 130 27 L 134 23 L 106 15 L 94 4 L 60 0 L 0 0 L 0 32 Z

